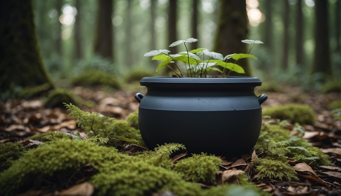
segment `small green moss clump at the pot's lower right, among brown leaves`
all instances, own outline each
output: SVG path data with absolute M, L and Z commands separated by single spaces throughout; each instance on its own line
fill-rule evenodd
M 266 157 L 264 159 L 256 158 L 252 160 L 251 166 L 255 167 L 258 173 L 258 179 L 265 178 L 283 180 L 298 180 L 296 171 L 287 162 L 271 159 Z

